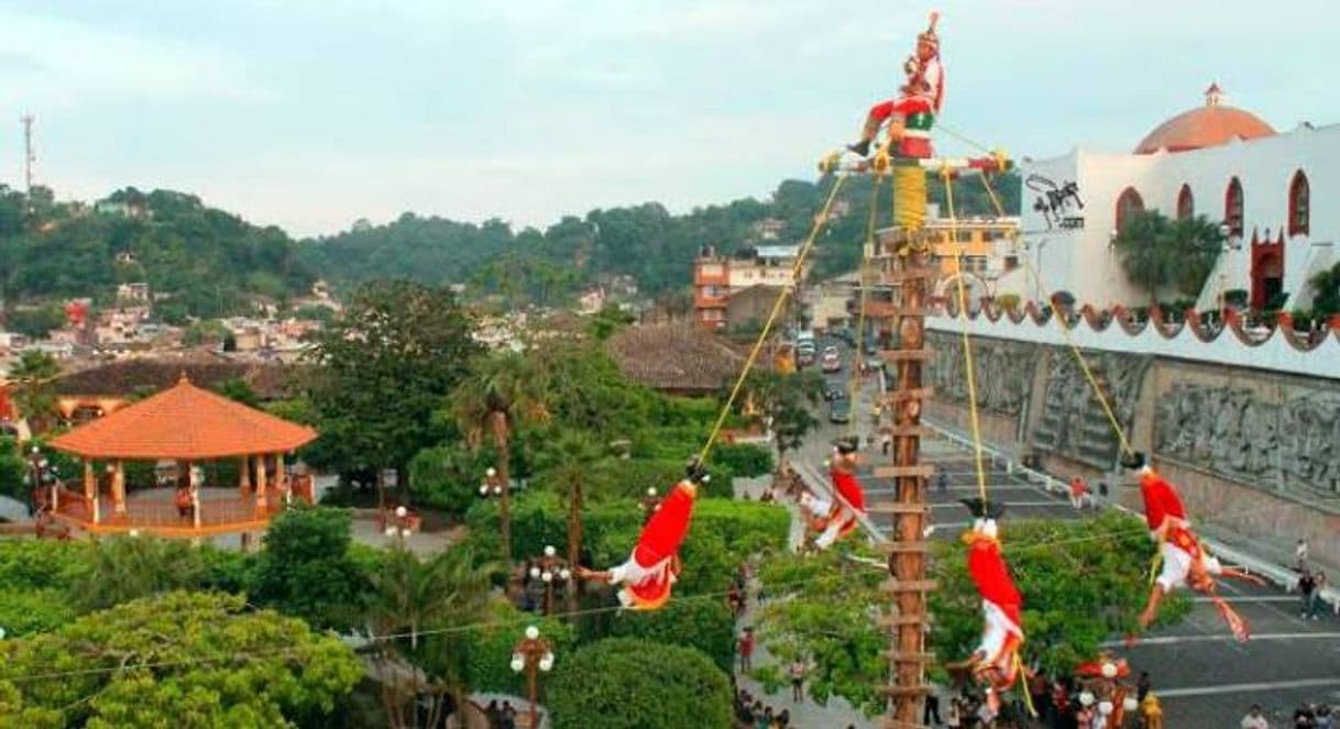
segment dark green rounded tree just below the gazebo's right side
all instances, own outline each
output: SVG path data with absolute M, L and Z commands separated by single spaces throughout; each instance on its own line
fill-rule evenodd
M 363 614 L 367 578 L 350 555 L 350 515 L 293 508 L 269 523 L 248 595 L 316 627 L 347 628 Z

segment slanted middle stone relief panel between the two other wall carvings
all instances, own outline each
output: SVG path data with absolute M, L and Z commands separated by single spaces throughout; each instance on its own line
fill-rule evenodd
M 1118 460 L 1120 440 L 1069 350 L 1049 351 L 1043 415 L 1033 430 L 1033 445 L 1103 470 Z M 1108 398 L 1122 429 L 1130 432 L 1140 385 L 1151 358 L 1084 352 L 1084 359 Z

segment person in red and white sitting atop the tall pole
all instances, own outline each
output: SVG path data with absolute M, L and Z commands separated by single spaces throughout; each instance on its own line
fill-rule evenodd
M 898 98 L 876 103 L 866 115 L 860 141 L 847 149 L 866 157 L 870 143 L 879 134 L 879 126 L 888 119 L 888 137 L 899 157 L 926 158 L 931 155 L 930 126 L 945 101 L 945 68 L 939 63 L 939 36 L 935 23 L 939 13 L 930 15 L 930 27 L 917 36 L 917 54 L 903 63 L 907 78 L 898 90 Z

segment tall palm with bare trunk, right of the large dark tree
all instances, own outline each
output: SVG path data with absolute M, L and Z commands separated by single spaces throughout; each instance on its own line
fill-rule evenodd
M 503 564 L 512 570 L 512 427 L 519 419 L 545 421 L 544 378 L 540 369 L 516 352 L 498 352 L 476 362 L 470 377 L 452 395 L 452 413 L 470 448 L 485 436 L 497 452 L 497 477 L 503 484 L 498 520 L 503 536 Z

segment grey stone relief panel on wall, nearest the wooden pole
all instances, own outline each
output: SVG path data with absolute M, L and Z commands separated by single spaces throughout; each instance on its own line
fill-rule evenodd
M 930 369 L 935 397 L 966 405 L 962 338 L 927 332 L 927 340 L 935 351 L 935 362 Z M 977 406 L 986 413 L 1017 417 L 1032 394 L 1036 352 L 1030 344 L 974 338 Z

